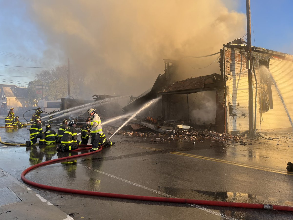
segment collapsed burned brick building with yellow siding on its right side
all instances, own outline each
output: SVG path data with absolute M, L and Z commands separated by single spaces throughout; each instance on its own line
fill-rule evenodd
M 232 134 L 249 130 L 247 46 L 242 41 L 228 43 L 219 53 L 219 73 L 177 82 L 172 82 L 172 74 L 177 71 L 176 61 L 164 59 L 165 73 L 158 76 L 149 91 L 125 106 L 124 110 L 137 109 L 160 95 L 162 99 L 157 104 L 156 114 L 160 114 L 161 108 L 162 122 L 177 120 L 195 128 Z M 256 121 L 255 129 L 292 128 L 292 56 L 258 47 L 252 47 L 252 55 L 251 117 Z M 202 100 L 194 105 L 198 95 Z M 205 114 L 199 114 L 198 109 Z

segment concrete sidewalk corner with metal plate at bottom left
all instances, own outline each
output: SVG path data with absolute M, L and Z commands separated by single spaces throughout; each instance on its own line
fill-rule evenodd
M 0 168 L 0 219 L 73 220 Z

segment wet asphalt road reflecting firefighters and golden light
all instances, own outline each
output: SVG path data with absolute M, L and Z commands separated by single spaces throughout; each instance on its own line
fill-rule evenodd
M 29 126 L 0 129 L 4 142 L 25 143 L 29 138 Z M 111 138 L 114 146 L 76 158 L 73 164 L 40 167 L 26 177 L 99 192 L 293 206 L 293 173 L 286 170 L 287 162 L 293 162 L 293 141 L 290 134 L 278 137 L 252 140 L 252 145 L 217 145 L 210 140 L 194 145 L 192 141 L 154 142 L 154 136 L 116 134 Z M 20 175 L 27 167 L 69 155 L 57 154 L 55 147 L 0 144 L 0 167 L 22 182 Z M 65 213 L 74 214 L 74 219 L 293 219 L 293 213 L 285 211 L 134 201 L 31 188 Z

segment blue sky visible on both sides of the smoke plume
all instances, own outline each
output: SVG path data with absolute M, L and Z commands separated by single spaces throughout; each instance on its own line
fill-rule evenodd
M 246 13 L 245 0 L 223 1 L 230 11 Z M 67 60 L 59 62 L 57 52 L 55 55 L 45 53 L 48 48 L 52 50 L 53 46 L 47 44 L 46 35 L 38 28 L 37 22 L 30 19 L 27 7 L 30 7 L 30 3 L 26 1 L 0 0 L 0 64 L 34 67 L 66 65 Z M 252 45 L 293 54 L 292 11 L 292 0 L 251 0 Z M 39 71 L 40 69 L 2 66 L 0 84 L 26 85 Z

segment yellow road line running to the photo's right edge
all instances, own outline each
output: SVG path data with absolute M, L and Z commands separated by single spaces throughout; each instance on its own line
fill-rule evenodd
M 243 163 L 236 163 L 236 162 L 232 162 L 232 161 L 220 160 L 220 159 L 216 159 L 216 158 L 203 157 L 203 156 L 181 153 L 181 152 L 170 152 L 170 153 L 176 154 L 176 155 L 181 155 L 181 156 L 187 156 L 187 157 L 198 158 L 198 159 L 203 159 L 203 160 L 211 160 L 211 161 L 215 161 L 215 162 L 219 162 L 219 163 L 226 163 L 226 164 L 231 164 L 231 165 L 236 165 L 236 166 L 241 166 L 241 167 L 252 168 L 252 169 L 256 169 L 256 170 L 263 170 L 263 171 L 293 176 L 293 174 L 282 171 L 282 170 L 274 170 L 274 169 L 265 168 L 265 167 L 258 167 L 258 166 L 254 166 L 254 165 L 247 165 L 247 164 L 243 164 Z

